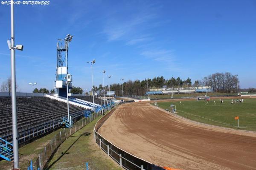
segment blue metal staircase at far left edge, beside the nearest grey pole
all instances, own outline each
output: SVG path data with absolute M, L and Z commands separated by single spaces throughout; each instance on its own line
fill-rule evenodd
M 13 145 L 2 138 L 0 138 L 0 157 L 6 161 L 13 159 Z

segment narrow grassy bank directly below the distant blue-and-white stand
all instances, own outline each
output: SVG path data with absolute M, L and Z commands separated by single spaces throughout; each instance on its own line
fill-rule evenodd
M 206 93 L 188 93 L 188 94 L 173 94 L 174 98 L 181 98 L 181 97 L 197 97 L 197 96 L 204 96 Z M 236 96 L 237 94 L 232 93 L 207 93 L 207 96 Z M 150 95 L 150 99 L 164 99 L 164 98 L 171 98 L 172 94 L 159 94 L 159 95 Z

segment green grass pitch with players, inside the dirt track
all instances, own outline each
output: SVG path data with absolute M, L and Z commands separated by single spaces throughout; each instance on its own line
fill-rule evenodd
M 180 102 L 158 102 L 158 106 L 163 109 L 170 109 L 170 105 L 176 105 L 177 115 L 196 122 L 202 122 L 209 125 L 237 128 L 239 116 L 239 129 L 256 131 L 256 99 L 244 99 L 242 104 L 231 104 L 231 99 L 224 99 L 221 104 L 219 99 L 210 100 L 206 104 L 201 101 L 182 101 Z M 152 103 L 153 104 L 153 103 Z

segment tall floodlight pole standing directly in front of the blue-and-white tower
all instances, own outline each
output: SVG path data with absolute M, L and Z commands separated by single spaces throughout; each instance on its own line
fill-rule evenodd
M 68 97 L 68 84 L 70 82 L 67 81 L 67 74 L 68 74 L 68 62 L 67 62 L 67 50 L 68 50 L 68 45 L 69 42 L 72 40 L 73 36 L 70 34 L 67 34 L 67 37 L 64 39 L 65 40 L 65 50 L 66 50 L 66 67 L 67 67 L 67 71 L 66 71 L 66 84 L 67 84 L 67 120 L 71 125 L 71 119 L 70 119 L 70 114 L 69 114 L 69 97 Z

